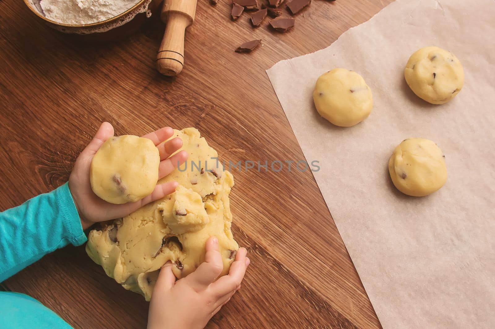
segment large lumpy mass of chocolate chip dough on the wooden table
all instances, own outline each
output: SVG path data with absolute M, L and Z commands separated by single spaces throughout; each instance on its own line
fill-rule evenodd
M 232 174 L 212 159 L 217 152 L 195 128 L 174 130 L 171 138 L 175 137 L 182 139 L 181 149 L 189 158 L 159 183 L 177 181 L 176 191 L 91 231 L 86 245 L 88 255 L 109 277 L 146 300 L 167 261 L 172 261 L 179 279 L 196 270 L 204 261 L 208 237 L 218 238 L 224 265 L 221 275 L 228 273 L 239 248 L 230 231 Z

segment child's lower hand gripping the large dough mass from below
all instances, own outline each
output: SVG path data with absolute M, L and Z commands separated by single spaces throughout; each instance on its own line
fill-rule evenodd
M 214 236 L 206 241 L 205 262 L 187 277 L 175 281 L 172 264 L 163 265 L 149 303 L 148 329 L 204 328 L 241 288 L 249 265 L 246 252 L 239 248 L 229 274 L 218 280 L 223 262 Z

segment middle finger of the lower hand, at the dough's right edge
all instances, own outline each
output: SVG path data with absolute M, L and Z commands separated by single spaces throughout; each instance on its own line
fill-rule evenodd
M 211 285 L 211 289 L 216 296 L 224 296 L 239 288 L 249 265 L 249 258 L 246 258 L 246 254 L 246 248 L 239 248 L 236 259 L 230 266 L 229 274 L 221 277 Z

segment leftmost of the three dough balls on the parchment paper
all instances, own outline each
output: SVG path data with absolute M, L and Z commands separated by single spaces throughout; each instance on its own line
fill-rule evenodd
M 364 79 L 346 69 L 322 74 L 316 80 L 313 101 L 322 117 L 341 127 L 363 121 L 373 108 L 373 96 Z

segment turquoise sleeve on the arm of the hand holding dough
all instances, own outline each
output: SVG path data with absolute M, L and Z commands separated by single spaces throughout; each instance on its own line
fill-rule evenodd
M 69 243 L 87 240 L 68 183 L 0 213 L 0 282 Z

